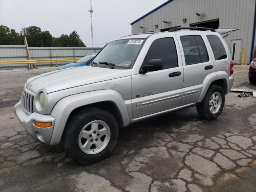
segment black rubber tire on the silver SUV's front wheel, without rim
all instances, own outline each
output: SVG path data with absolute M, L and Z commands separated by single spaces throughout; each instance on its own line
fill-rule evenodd
M 101 120 L 108 124 L 110 128 L 110 140 L 102 151 L 96 154 L 87 154 L 81 150 L 78 138 L 82 128 L 94 120 Z M 79 110 L 68 119 L 64 130 L 63 146 L 67 154 L 74 160 L 82 164 L 91 164 L 106 158 L 114 149 L 117 140 L 118 124 L 114 116 L 106 110 L 90 107 Z

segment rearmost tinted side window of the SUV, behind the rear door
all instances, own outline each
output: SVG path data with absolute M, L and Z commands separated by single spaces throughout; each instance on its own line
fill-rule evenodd
M 216 35 L 207 35 L 207 38 L 212 47 L 215 60 L 226 59 L 227 53 L 220 38 Z

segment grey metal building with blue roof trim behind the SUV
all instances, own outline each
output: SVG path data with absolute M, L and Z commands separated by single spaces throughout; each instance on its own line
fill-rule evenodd
M 250 63 L 256 46 L 256 0 L 168 0 L 131 25 L 132 34 L 176 26 L 239 28 L 224 39 L 235 63 L 241 63 L 243 48 L 244 62 Z

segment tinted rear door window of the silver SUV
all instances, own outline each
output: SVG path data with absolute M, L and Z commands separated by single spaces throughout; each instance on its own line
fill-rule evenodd
M 209 61 L 204 41 L 199 35 L 181 36 L 186 65 Z

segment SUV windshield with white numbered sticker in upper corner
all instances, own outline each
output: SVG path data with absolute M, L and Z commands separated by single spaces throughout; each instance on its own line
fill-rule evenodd
M 106 68 L 129 69 L 138 56 L 143 42 L 144 39 L 112 41 L 100 51 L 91 65 Z

